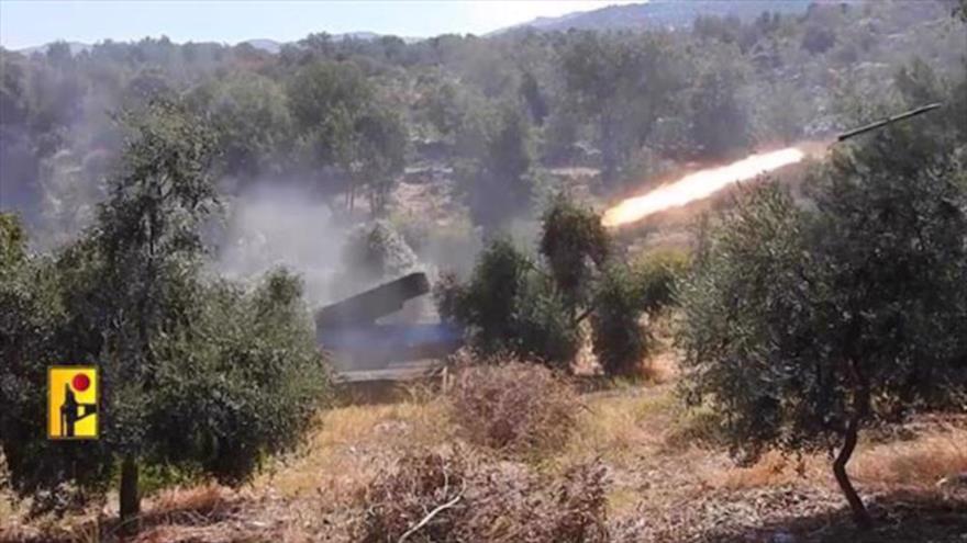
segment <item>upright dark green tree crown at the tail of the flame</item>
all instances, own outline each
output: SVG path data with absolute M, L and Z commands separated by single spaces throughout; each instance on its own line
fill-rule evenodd
M 540 251 L 571 318 L 587 304 L 591 280 L 610 253 L 610 237 L 601 216 L 560 193 L 544 212 Z

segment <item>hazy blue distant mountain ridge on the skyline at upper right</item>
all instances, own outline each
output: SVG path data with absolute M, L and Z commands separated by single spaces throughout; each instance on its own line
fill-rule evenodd
M 592 30 L 646 30 L 690 26 L 700 15 L 754 19 L 764 11 L 783 14 L 804 13 L 813 0 L 654 0 L 644 3 L 608 5 L 557 18 L 537 18 L 526 23 L 491 32 L 502 34 L 524 29 L 542 32 Z

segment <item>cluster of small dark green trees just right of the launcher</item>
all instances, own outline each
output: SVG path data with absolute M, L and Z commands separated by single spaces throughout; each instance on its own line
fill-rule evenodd
M 544 213 L 540 262 L 498 238 L 468 282 L 442 278 L 437 309 L 462 325 L 484 355 L 509 352 L 563 367 L 574 360 L 590 317 L 604 371 L 634 374 L 651 346 L 642 317 L 670 303 L 686 260 L 659 256 L 632 270 L 614 259 L 611 245 L 598 214 L 558 194 Z

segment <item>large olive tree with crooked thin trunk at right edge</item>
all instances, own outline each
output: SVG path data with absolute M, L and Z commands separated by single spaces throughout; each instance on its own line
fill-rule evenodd
M 738 452 L 837 450 L 864 525 L 846 474 L 859 430 L 965 386 L 964 176 L 920 125 L 883 131 L 813 173 L 814 211 L 771 184 L 744 195 L 681 289 L 691 398 Z

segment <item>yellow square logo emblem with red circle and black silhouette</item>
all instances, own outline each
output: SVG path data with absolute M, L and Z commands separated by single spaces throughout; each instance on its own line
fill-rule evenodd
M 47 438 L 98 439 L 98 369 L 47 370 Z

